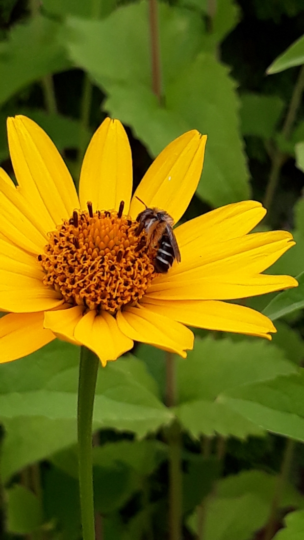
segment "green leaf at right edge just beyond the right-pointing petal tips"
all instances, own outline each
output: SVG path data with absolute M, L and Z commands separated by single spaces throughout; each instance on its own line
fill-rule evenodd
M 267 315 L 272 321 L 304 307 L 304 272 L 296 279 L 299 282 L 299 287 L 287 289 L 287 291 L 277 294 L 264 309 L 264 315 Z

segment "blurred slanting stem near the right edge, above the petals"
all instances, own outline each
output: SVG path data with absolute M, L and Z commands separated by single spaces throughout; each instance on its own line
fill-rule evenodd
M 288 140 L 291 136 L 291 131 L 295 122 L 296 113 L 298 112 L 301 103 L 303 88 L 304 65 L 301 67 L 299 77 L 295 83 L 291 102 L 289 103 L 288 111 L 282 127 L 282 135 L 285 137 L 286 140 Z M 285 160 L 285 153 L 281 152 L 281 150 L 279 149 L 276 149 L 272 156 L 271 171 L 269 174 L 269 180 L 264 198 L 264 206 L 265 208 L 267 208 L 268 211 L 271 208 L 276 186 L 278 185 L 278 181 L 280 178 L 281 168 Z

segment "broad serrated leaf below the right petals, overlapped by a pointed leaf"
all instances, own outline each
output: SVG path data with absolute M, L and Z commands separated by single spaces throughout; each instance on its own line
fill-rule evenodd
M 289 373 L 296 373 L 295 366 L 271 343 L 196 339 L 187 360 L 177 360 L 176 414 L 194 437 L 202 433 L 240 438 L 262 435 L 259 425 L 226 407 L 218 396 L 230 388 Z

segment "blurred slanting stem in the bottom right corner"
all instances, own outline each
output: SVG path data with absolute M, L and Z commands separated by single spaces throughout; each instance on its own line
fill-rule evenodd
M 281 464 L 281 471 L 276 482 L 275 494 L 273 497 L 271 511 L 269 514 L 268 523 L 265 529 L 265 535 L 263 540 L 271 540 L 275 534 L 276 530 L 276 521 L 278 519 L 278 510 L 280 507 L 280 502 L 285 487 L 285 483 L 288 478 L 289 470 L 291 468 L 293 451 L 294 451 L 295 442 L 292 439 L 286 441 L 285 452 L 283 456 L 283 461 Z

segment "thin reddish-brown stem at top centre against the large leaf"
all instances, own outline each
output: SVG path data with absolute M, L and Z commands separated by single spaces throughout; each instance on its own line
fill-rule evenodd
M 157 0 L 149 0 L 149 25 L 151 39 L 152 92 L 161 104 L 161 60 Z

